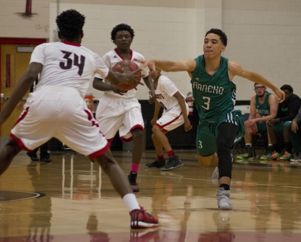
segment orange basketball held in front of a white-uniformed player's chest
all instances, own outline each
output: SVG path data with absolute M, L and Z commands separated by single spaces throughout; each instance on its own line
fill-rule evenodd
M 119 62 L 117 62 L 113 68 L 112 68 L 112 71 L 114 72 L 119 72 L 119 73 L 127 73 L 127 72 L 130 72 L 130 71 L 134 71 L 136 69 L 140 69 L 140 67 L 134 62 L 134 61 L 131 61 L 129 59 L 124 59 L 124 60 L 121 60 Z M 141 74 L 141 71 L 138 71 L 137 72 L 137 75 Z M 136 78 L 137 80 L 141 80 L 141 76 L 137 76 Z M 137 86 L 138 83 L 136 83 L 135 86 Z M 121 83 L 121 84 L 117 84 L 115 85 L 117 88 L 121 89 L 121 90 L 130 90 L 130 89 L 133 89 L 134 86 L 132 85 L 129 85 L 127 83 Z

